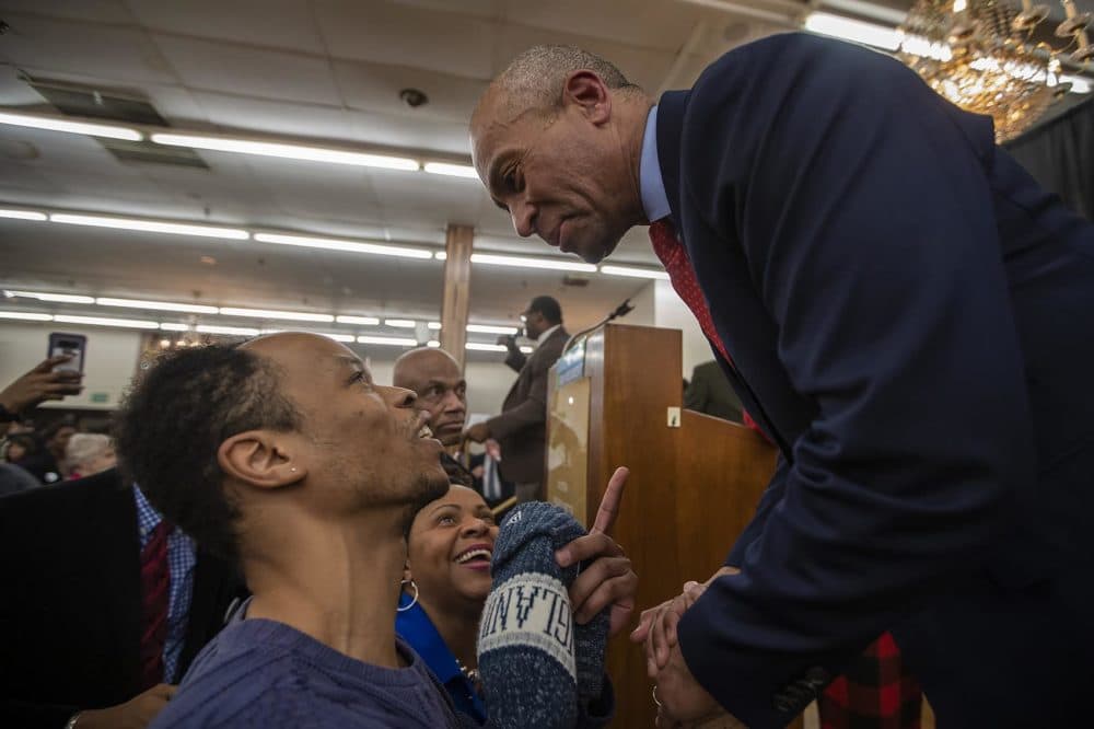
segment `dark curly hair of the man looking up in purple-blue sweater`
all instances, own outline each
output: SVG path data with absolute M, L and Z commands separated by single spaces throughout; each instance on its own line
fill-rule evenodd
M 179 349 L 156 360 L 115 419 L 123 474 L 167 520 L 232 562 L 240 511 L 217 452 L 240 432 L 300 427 L 279 385 L 278 368 L 238 345 Z

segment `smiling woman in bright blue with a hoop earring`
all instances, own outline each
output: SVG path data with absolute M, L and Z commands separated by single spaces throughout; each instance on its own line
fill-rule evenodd
M 395 629 L 441 680 L 456 708 L 482 724 L 475 639 L 490 592 L 498 525 L 476 491 L 453 484 L 410 526 Z

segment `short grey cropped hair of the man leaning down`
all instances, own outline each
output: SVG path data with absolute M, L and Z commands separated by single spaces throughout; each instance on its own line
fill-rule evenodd
M 608 89 L 639 90 L 614 63 L 575 46 L 533 46 L 514 58 L 491 85 L 505 92 L 514 115 L 529 108 L 551 112 L 562 105 L 567 77 L 581 69 L 595 72 Z

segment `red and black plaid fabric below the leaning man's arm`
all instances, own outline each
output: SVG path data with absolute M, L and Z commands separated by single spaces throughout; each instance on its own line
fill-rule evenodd
M 888 633 L 870 645 L 817 702 L 822 729 L 919 729 L 923 693 Z

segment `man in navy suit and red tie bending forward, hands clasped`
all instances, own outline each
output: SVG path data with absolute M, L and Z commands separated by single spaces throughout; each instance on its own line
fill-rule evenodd
M 632 636 L 664 720 L 784 726 L 886 629 L 941 726 L 1089 718 L 1094 228 L 990 119 L 788 34 L 660 100 L 533 48 L 472 141 L 521 235 L 595 263 L 654 223 L 781 451 L 726 566 Z

